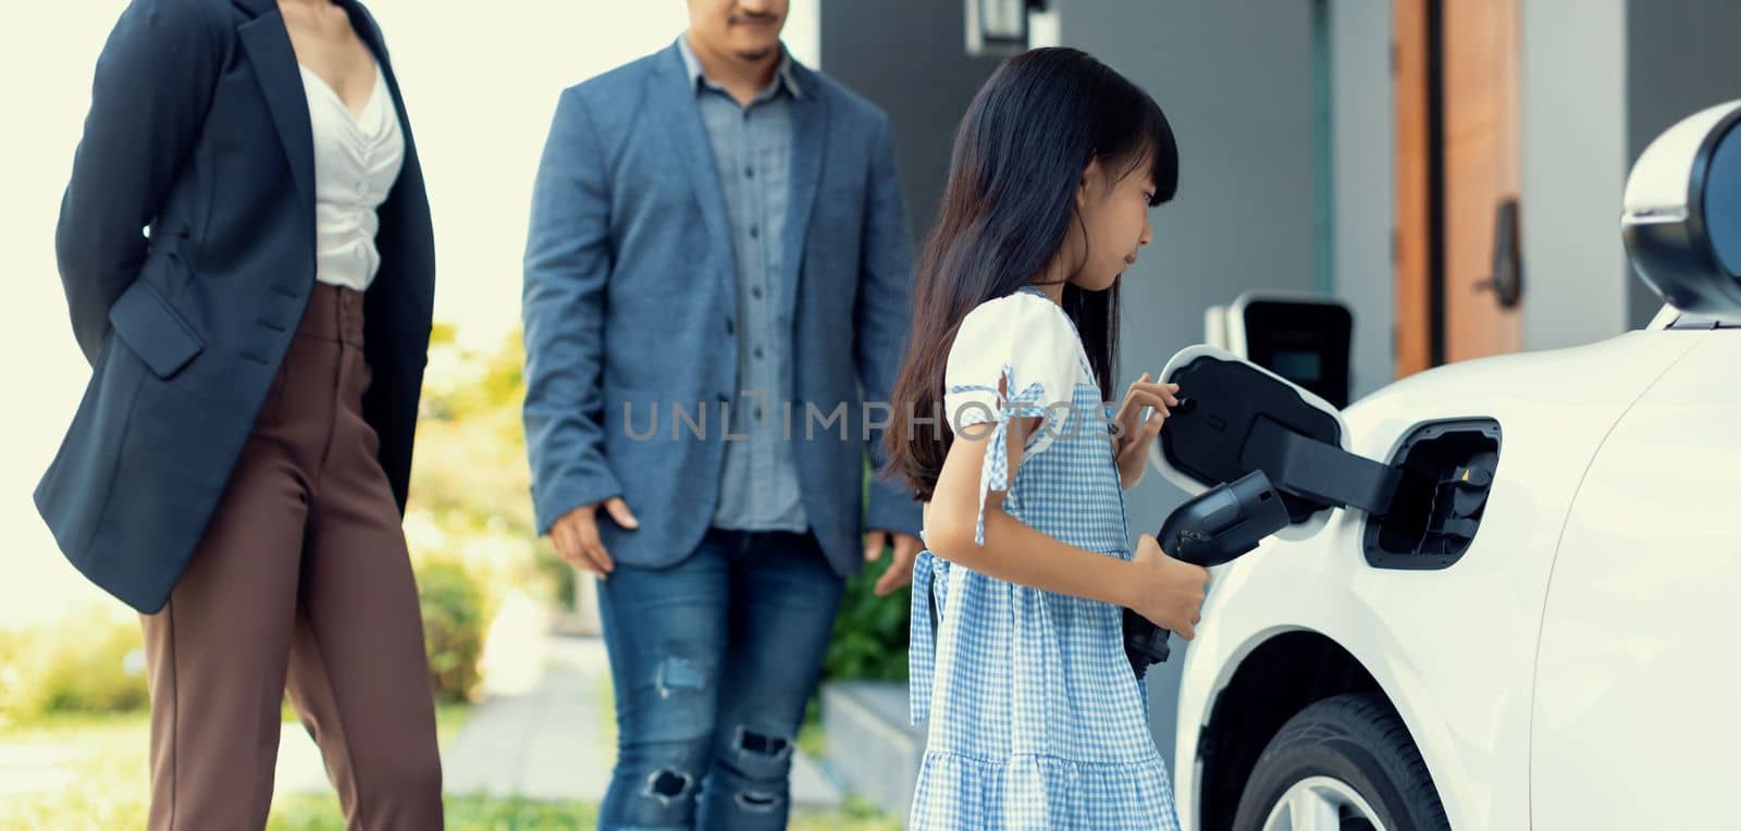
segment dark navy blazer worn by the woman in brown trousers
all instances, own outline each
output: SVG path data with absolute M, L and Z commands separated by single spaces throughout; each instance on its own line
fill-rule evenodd
M 339 5 L 406 130 L 364 299 L 364 416 L 402 511 L 435 252 L 381 33 Z M 92 374 L 35 502 L 66 558 L 141 612 L 164 607 L 204 535 L 315 285 L 313 176 L 273 0 L 132 0 L 97 59 L 56 233 Z

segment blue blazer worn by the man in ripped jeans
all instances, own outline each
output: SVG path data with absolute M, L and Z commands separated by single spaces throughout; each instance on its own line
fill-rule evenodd
M 864 529 L 919 529 L 911 494 L 883 480 L 867 501 L 864 492 L 862 402 L 888 402 L 912 252 L 888 116 L 827 76 L 794 71 L 806 96 L 792 101 L 780 285 L 794 389 L 783 393 L 804 515 L 846 575 L 862 565 Z M 663 567 L 702 541 L 724 464 L 719 402 L 738 382 L 735 268 L 712 144 L 677 45 L 562 92 L 526 245 L 524 416 L 540 534 L 576 506 L 622 495 L 641 529 L 601 511 L 613 560 Z M 806 403 L 822 414 L 808 436 Z M 688 426 L 672 438 L 674 405 L 691 417 L 707 407 L 705 438 Z M 841 405 L 843 421 L 829 422 Z M 658 435 L 635 440 L 630 428 L 644 435 L 655 407 Z M 869 419 L 886 412 L 872 407 Z

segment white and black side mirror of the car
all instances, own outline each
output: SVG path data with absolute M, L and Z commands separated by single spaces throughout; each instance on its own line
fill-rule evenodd
M 1626 177 L 1621 238 L 1633 269 L 1670 306 L 1741 311 L 1741 101 L 1670 127 Z

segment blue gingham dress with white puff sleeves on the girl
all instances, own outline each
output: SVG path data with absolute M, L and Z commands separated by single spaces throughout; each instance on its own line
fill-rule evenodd
M 958 435 L 968 424 L 991 433 L 980 539 L 985 492 L 1005 490 L 1003 509 L 1029 527 L 1130 560 L 1107 407 L 1062 308 L 1024 289 L 973 309 L 949 353 L 945 393 Z M 1043 429 L 1006 482 L 1008 421 L 1034 416 L 1046 416 Z M 930 551 L 912 586 L 912 718 L 928 718 L 930 734 L 911 828 L 1179 828 L 1118 607 Z

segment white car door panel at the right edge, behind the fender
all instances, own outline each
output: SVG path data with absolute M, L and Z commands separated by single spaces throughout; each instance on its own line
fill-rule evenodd
M 1555 558 L 1536 673 L 1536 828 L 1734 822 L 1741 330 L 1626 412 Z M 1600 798 L 1593 798 L 1600 794 Z

